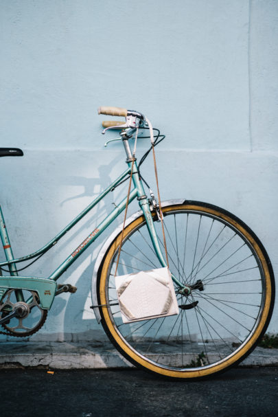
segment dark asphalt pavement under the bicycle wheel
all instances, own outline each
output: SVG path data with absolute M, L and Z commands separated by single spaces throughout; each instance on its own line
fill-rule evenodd
M 1 416 L 266 417 L 278 414 L 278 368 L 235 368 L 205 381 L 117 370 L 1 369 Z

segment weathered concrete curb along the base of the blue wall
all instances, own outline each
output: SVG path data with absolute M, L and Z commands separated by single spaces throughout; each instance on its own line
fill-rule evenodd
M 240 366 L 274 365 L 278 365 L 278 349 L 256 348 L 240 363 Z M 0 369 L 106 369 L 130 366 L 111 343 L 106 342 L 0 342 Z

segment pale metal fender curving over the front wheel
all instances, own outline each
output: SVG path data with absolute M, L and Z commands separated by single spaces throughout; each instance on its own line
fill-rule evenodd
M 161 207 L 167 207 L 167 205 L 178 205 L 183 204 L 185 202 L 185 199 L 175 199 L 175 200 L 167 200 L 161 202 Z M 142 210 L 139 210 L 138 212 L 135 212 L 130 217 L 126 219 L 126 226 L 130 225 L 132 221 L 135 221 L 138 217 L 142 216 L 143 212 Z M 100 308 L 97 307 L 98 300 L 97 300 L 97 277 L 100 274 L 101 271 L 101 264 L 102 259 L 104 258 L 104 255 L 106 251 L 111 246 L 111 243 L 113 240 L 118 236 L 118 234 L 121 233 L 123 229 L 123 224 L 119 225 L 117 229 L 112 232 L 111 236 L 108 237 L 108 239 L 105 241 L 104 245 L 100 249 L 100 252 L 97 255 L 97 258 L 95 260 L 95 267 L 93 269 L 93 275 L 92 275 L 92 285 L 91 285 L 91 298 L 93 303 L 93 312 L 95 313 L 95 318 L 97 319 L 97 323 L 100 324 L 101 322 L 101 316 L 100 316 Z

